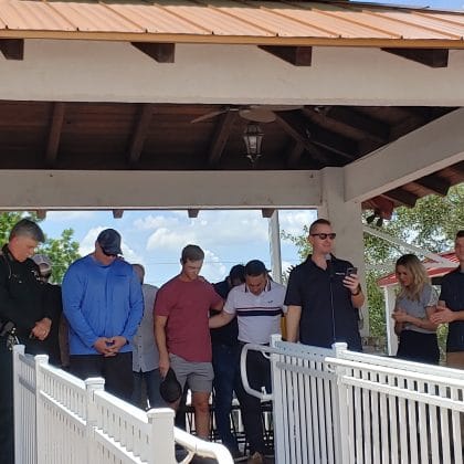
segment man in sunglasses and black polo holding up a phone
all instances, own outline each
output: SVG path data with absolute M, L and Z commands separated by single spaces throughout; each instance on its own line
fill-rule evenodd
M 326 219 L 309 228 L 313 254 L 289 275 L 285 304 L 288 307 L 288 341 L 330 348 L 345 341 L 351 350 L 361 350 L 358 308 L 365 296 L 352 264 L 331 254 L 336 234 Z

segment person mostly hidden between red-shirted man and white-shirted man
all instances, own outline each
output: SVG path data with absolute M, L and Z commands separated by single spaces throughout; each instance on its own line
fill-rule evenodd
M 215 292 L 225 300 L 232 287 L 245 282 L 245 266 L 236 264 L 229 276 L 214 284 Z M 212 312 L 212 314 L 214 314 Z M 240 346 L 239 327 L 234 317 L 226 326 L 211 329 L 212 365 L 214 370 L 214 418 L 218 434 L 233 456 L 240 455 L 236 440 L 231 433 L 230 412 L 234 383 L 238 381 Z

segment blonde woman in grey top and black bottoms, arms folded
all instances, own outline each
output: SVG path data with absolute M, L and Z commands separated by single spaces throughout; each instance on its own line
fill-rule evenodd
M 437 294 L 425 267 L 414 254 L 404 254 L 397 261 L 396 273 L 401 286 L 392 314 L 394 331 L 400 338 L 397 357 L 437 363 L 437 325 L 429 320 L 435 310 Z

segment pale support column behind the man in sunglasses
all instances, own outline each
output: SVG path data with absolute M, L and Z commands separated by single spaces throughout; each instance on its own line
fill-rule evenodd
M 365 245 L 362 240 L 361 203 L 345 201 L 345 175 L 342 168 L 325 168 L 321 173 L 323 205 L 318 217 L 328 219 L 337 233 L 335 254 L 358 267 L 362 289 L 366 293 Z M 361 309 L 361 335 L 369 333 L 367 305 Z

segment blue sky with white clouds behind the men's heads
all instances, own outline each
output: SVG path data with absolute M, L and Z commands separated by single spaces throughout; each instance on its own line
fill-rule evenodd
M 300 234 L 314 219 L 314 210 L 280 213 L 281 229 L 293 234 Z M 155 285 L 179 272 L 180 251 L 188 243 L 204 250 L 202 274 L 210 282 L 221 281 L 236 263 L 257 259 L 271 264 L 268 220 L 261 210 L 200 211 L 196 219 L 186 211 L 125 211 L 122 219 L 113 219 L 110 211 L 49 211 L 41 226 L 51 238 L 72 228 L 82 255 L 93 251 L 99 231 L 116 229 L 125 259 L 141 263 L 146 282 Z M 282 261 L 284 267 L 299 262 L 291 242 L 282 241 Z

